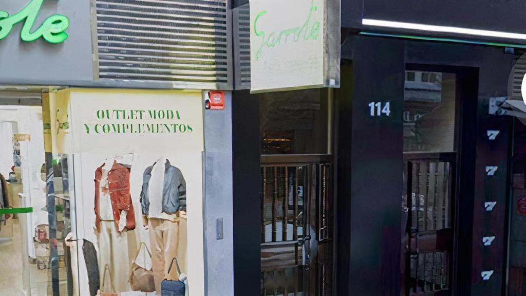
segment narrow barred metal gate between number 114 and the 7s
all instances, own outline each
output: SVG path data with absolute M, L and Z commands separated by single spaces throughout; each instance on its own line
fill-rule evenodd
M 406 295 L 451 295 L 453 260 L 453 157 L 406 164 Z

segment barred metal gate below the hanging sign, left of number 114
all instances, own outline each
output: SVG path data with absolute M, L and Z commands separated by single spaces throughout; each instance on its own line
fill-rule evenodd
M 332 162 L 262 156 L 261 295 L 332 295 Z

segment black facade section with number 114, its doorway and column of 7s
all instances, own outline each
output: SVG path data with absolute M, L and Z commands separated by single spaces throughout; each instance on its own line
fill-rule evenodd
M 513 55 L 497 47 L 350 38 L 355 88 L 347 105 L 351 122 L 340 125 L 340 139 L 351 140 L 350 147 L 339 146 L 340 157 L 350 149 L 350 159 L 344 158 L 350 168 L 341 167 L 339 177 L 356 178 L 340 189 L 356 194 L 344 195 L 350 225 L 348 215 L 338 221 L 338 237 L 347 242 L 339 245 L 350 247 L 340 249 L 350 263 L 338 270 L 339 289 L 371 295 L 400 289 L 401 294 L 424 289 L 500 294 L 513 119 L 487 112 L 491 97 L 507 96 Z M 371 116 L 371 102 L 389 102 L 392 117 Z M 490 140 L 488 131 L 499 133 Z M 490 166 L 503 170 L 491 174 Z M 497 204 L 485 207 L 488 202 Z M 492 241 L 485 245 L 488 236 Z M 432 268 L 425 269 L 424 260 Z M 437 261 L 439 267 L 433 265 Z M 484 278 L 485 272 L 491 277 Z M 423 277 L 434 282 L 424 287 Z

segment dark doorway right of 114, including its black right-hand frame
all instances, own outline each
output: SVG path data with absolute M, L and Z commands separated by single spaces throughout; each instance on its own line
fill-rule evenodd
M 402 295 L 453 295 L 461 282 L 457 270 L 466 259 L 459 255 L 471 246 L 471 229 L 461 223 L 472 219 L 474 136 L 462 131 L 477 122 L 473 73 L 457 67 L 407 67 Z

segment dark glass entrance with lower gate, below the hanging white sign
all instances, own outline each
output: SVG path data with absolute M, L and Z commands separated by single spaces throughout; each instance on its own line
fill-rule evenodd
M 259 95 L 261 295 L 333 295 L 327 90 Z

